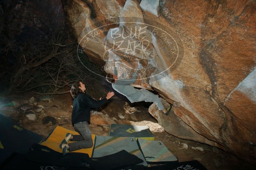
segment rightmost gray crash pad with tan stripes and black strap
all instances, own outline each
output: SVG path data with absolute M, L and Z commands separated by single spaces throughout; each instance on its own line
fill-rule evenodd
M 138 138 L 137 142 L 148 164 L 160 164 L 178 160 L 160 140 Z

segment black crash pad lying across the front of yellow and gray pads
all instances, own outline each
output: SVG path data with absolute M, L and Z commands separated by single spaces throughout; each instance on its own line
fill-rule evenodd
M 67 152 L 65 156 L 62 156 L 62 153 L 38 144 L 31 146 L 30 151 L 26 154 L 26 159 L 41 164 L 60 167 L 78 168 L 87 167 L 89 164 L 94 170 L 112 170 L 143 162 L 142 159 L 139 159 L 125 150 L 99 158 L 89 158 L 88 154 L 79 152 Z

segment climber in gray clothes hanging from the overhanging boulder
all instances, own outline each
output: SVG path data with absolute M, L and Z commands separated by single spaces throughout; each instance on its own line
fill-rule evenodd
M 106 75 L 106 80 L 112 83 L 113 89 L 115 89 L 120 94 L 126 96 L 131 103 L 141 101 L 154 102 L 159 110 L 162 110 L 165 115 L 168 115 L 170 110 L 172 109 L 172 104 L 170 104 L 168 108 L 164 108 L 162 102 L 160 101 L 160 98 L 157 95 L 151 93 L 146 89 L 135 89 L 132 85 L 130 85 L 131 83 L 136 82 L 137 67 L 138 66 L 134 68 L 135 71 L 132 75 L 132 78 L 130 79 L 118 79 L 117 69 L 116 67 L 114 67 L 114 73 L 108 73 Z

